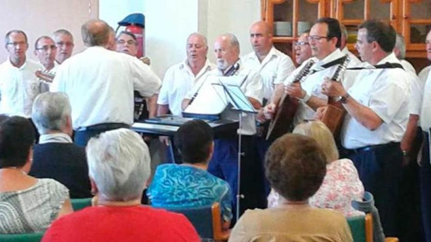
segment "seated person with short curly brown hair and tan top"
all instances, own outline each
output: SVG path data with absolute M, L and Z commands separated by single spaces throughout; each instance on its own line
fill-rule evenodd
M 276 139 L 265 156 L 265 175 L 284 202 L 245 211 L 229 241 L 352 242 L 343 214 L 308 204 L 325 173 L 326 155 L 314 139 L 301 134 Z

